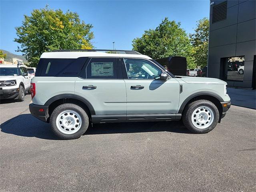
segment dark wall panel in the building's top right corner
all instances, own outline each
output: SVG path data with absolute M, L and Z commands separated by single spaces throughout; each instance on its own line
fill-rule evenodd
M 256 18 L 256 1 L 248 0 L 239 4 L 238 23 Z

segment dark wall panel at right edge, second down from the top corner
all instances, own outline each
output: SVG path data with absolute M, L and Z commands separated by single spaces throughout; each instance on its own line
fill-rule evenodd
M 244 42 L 256 39 L 256 19 L 238 24 L 237 42 Z

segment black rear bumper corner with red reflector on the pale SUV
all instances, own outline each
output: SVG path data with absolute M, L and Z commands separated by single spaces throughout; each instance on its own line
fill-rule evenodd
M 43 122 L 48 122 L 48 107 L 49 106 L 47 105 L 35 105 L 33 103 L 29 104 L 30 113 Z

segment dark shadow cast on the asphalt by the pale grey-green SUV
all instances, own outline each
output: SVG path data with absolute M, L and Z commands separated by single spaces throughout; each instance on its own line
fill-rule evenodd
M 59 140 L 50 128 L 50 124 L 44 123 L 31 114 L 21 114 L 0 125 L 4 133 L 23 137 L 36 137 L 48 140 Z M 104 123 L 94 124 L 86 131 L 86 135 L 92 134 L 115 134 L 136 132 L 176 132 L 191 134 L 181 121 L 173 122 L 127 122 L 127 123 Z

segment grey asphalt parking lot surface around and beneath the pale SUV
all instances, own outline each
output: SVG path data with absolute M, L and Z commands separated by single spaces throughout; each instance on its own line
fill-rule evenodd
M 181 122 L 98 124 L 58 140 L 24 102 L 0 104 L 0 191 L 256 191 L 256 110 L 208 134 Z

